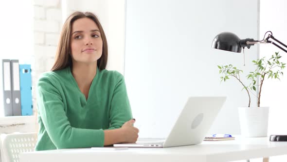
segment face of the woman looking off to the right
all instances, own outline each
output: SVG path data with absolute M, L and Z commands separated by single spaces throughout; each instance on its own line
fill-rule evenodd
M 96 23 L 89 18 L 72 24 L 71 56 L 73 62 L 93 63 L 102 56 L 103 40 Z

